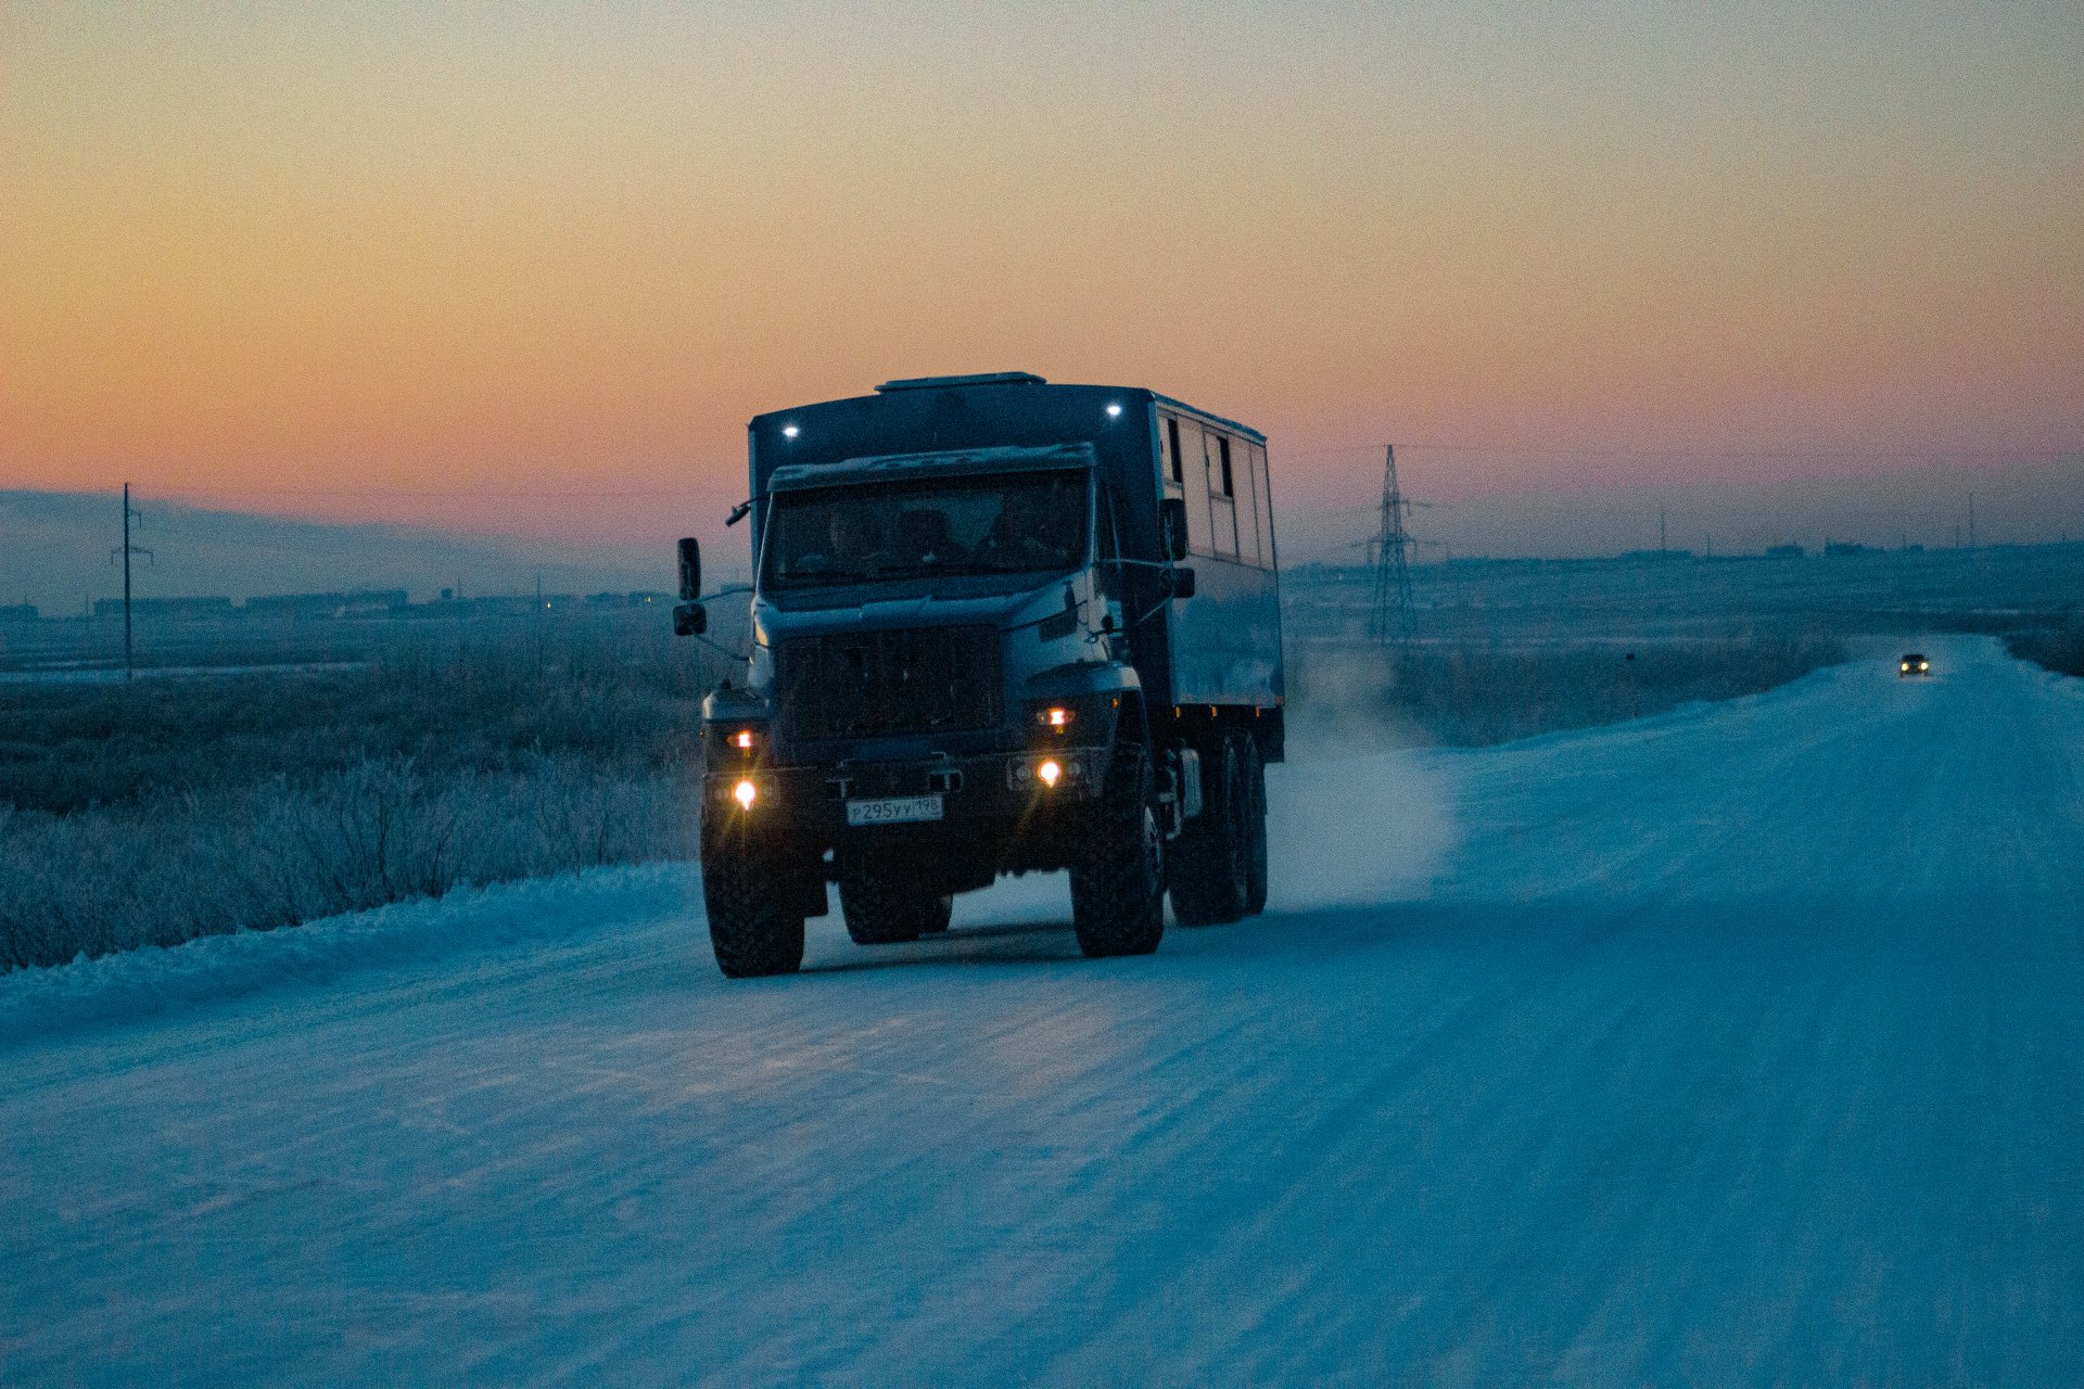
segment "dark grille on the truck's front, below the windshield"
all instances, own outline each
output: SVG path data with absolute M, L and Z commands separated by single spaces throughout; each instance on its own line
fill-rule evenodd
M 790 737 L 954 733 L 1000 723 L 998 631 L 913 627 L 775 646 Z

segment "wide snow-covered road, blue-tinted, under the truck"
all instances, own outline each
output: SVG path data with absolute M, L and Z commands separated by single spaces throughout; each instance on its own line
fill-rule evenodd
M 0 1383 L 2084 1383 L 2084 696 L 1275 771 L 1275 902 L 627 870 L 0 979 Z

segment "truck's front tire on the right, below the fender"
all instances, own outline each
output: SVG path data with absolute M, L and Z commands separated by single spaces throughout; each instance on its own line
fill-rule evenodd
M 1071 841 L 1071 927 L 1088 956 L 1146 956 L 1165 935 L 1165 837 L 1150 754 L 1121 743 Z

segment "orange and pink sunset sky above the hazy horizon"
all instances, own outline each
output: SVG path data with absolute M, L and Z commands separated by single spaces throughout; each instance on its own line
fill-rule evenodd
M 2076 0 L 17 0 L 0 487 L 648 544 L 759 410 L 1004 369 L 1296 508 L 2059 475 L 2080 73 Z

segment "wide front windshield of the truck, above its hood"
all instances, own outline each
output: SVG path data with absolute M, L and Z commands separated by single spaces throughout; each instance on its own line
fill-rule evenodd
M 1086 473 L 986 473 L 777 491 L 763 589 L 1086 562 Z

